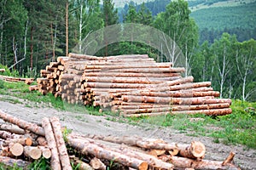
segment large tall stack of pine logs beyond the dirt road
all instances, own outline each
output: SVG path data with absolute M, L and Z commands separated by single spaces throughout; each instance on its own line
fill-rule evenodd
M 218 99 L 211 82 L 193 82 L 182 77 L 184 68 L 156 63 L 148 55 L 96 57 L 69 54 L 41 71 L 38 86 L 42 94 L 71 104 L 101 106 L 122 116 L 230 114 L 231 100 Z

